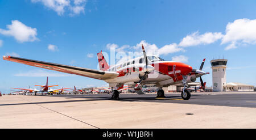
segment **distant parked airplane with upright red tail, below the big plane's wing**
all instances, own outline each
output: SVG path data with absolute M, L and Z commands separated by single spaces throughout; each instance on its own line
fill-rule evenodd
M 40 85 L 35 85 L 35 86 L 39 86 L 41 87 L 40 90 L 37 90 L 36 88 L 33 90 L 31 88 L 13 88 L 13 89 L 18 89 L 18 90 L 24 90 L 24 91 L 28 91 L 30 93 L 36 93 L 37 92 L 41 92 L 42 95 L 43 93 L 48 93 L 48 92 L 53 92 L 53 91 L 59 91 L 59 90 L 66 90 L 66 89 L 70 89 L 70 88 L 60 88 L 60 89 L 52 89 L 52 88 L 49 88 L 49 87 L 55 87 L 55 86 L 59 86 L 59 85 L 54 85 L 54 86 L 48 86 L 48 77 L 47 77 L 47 80 L 46 80 L 46 85 L 43 85 L 43 86 L 40 86 Z

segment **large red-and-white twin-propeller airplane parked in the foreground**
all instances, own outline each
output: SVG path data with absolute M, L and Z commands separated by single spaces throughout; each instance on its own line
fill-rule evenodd
M 155 55 L 147 56 L 143 45 L 142 50 L 143 56 L 118 63 L 111 67 L 106 62 L 102 52 L 97 53 L 100 70 L 28 60 L 13 56 L 3 56 L 3 60 L 104 80 L 109 83 L 109 87 L 112 89 L 122 87 L 123 84 L 131 85 L 137 94 L 144 94 L 141 90 L 141 85 L 154 84 L 160 88 L 158 90 L 158 97 L 164 97 L 162 87 L 182 84 L 184 88 L 181 91 L 181 97 L 184 100 L 188 100 L 191 97 L 191 93 L 187 90 L 187 83 L 195 82 L 196 78 L 209 74 L 201 71 L 205 59 L 201 63 L 200 70 L 196 70 L 185 63 L 165 61 Z M 112 99 L 119 99 L 119 91 L 112 91 Z

